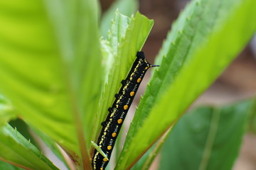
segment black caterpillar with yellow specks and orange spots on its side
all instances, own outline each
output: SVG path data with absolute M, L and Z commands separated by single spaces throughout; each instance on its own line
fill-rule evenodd
M 115 94 L 114 103 L 108 109 L 109 114 L 106 120 L 102 122 L 102 131 L 97 140 L 97 146 L 102 149 L 108 159 L 95 149 L 92 157 L 92 169 L 104 170 L 107 166 L 124 118 L 132 104 L 139 84 L 150 67 L 159 67 L 159 65 L 149 64 L 146 61 L 144 52 L 137 52 L 137 58 L 132 65 L 132 69 L 130 69 L 127 78 L 121 81 L 122 87 L 119 89 L 118 94 Z

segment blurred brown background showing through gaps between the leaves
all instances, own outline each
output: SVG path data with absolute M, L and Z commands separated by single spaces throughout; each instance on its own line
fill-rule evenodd
M 102 11 L 106 11 L 114 0 L 101 0 Z M 188 3 L 187 0 L 140 0 L 139 11 L 148 18 L 154 19 L 154 27 L 151 30 L 143 51 L 150 63 L 154 63 L 154 57 L 159 52 L 166 34 L 171 28 L 171 23 L 178 17 Z M 145 79 L 149 79 L 150 74 Z M 140 87 L 139 94 L 143 94 L 146 80 Z M 245 98 L 256 96 L 256 36 L 250 44 L 240 52 L 240 55 L 225 69 L 223 74 L 210 86 L 210 88 L 194 103 L 223 105 Z M 137 95 L 135 105 L 139 102 Z M 130 112 L 134 113 L 132 109 Z M 130 118 L 132 119 L 132 118 Z M 240 155 L 235 162 L 233 170 L 256 169 L 256 135 L 247 132 L 243 138 Z M 156 163 L 157 164 L 157 163 Z M 153 168 L 154 169 L 154 168 Z

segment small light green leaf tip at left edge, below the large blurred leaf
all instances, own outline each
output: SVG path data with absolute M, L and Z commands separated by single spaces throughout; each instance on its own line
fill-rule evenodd
M 0 94 L 0 127 L 9 120 L 16 118 L 16 116 L 11 101 Z

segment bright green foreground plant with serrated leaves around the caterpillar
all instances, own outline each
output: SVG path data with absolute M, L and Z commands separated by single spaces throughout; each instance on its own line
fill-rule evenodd
M 136 4 L 117 1 L 122 8 L 127 3 Z M 115 169 L 132 168 L 151 148 L 135 165 L 148 168 L 166 132 L 255 33 L 255 6 L 254 0 L 186 6 L 156 58 L 161 67 L 139 103 Z M 98 13 L 92 0 L 0 1 L 0 160 L 23 169 L 58 169 L 6 123 L 20 117 L 65 162 L 56 144 L 63 147 L 70 169 L 90 169 L 90 141 L 153 26 L 140 13 L 129 18 L 116 12 L 100 39 Z M 109 18 L 102 21 L 104 31 Z M 0 166 L 15 169 L 4 162 Z

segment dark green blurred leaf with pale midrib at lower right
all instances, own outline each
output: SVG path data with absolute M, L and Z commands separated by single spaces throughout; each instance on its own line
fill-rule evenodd
M 159 169 L 232 169 L 251 108 L 243 101 L 186 113 L 162 148 Z

